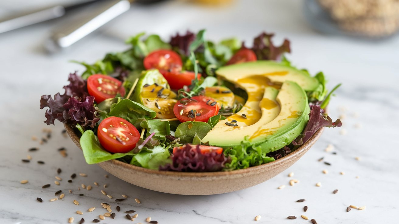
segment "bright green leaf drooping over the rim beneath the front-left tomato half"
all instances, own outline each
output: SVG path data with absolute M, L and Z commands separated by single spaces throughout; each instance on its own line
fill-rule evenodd
M 95 136 L 94 132 L 91 130 L 87 130 L 83 133 L 80 138 L 80 145 L 86 163 L 88 164 L 101 163 L 111 159 L 119 159 L 126 155 L 134 155 L 132 151 L 128 153 L 109 153 L 100 145 L 97 136 Z

